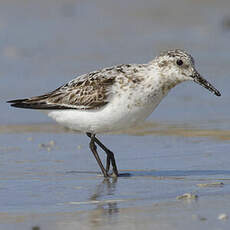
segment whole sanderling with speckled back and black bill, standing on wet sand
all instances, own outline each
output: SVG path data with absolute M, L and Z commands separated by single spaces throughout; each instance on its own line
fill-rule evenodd
M 176 49 L 162 52 L 148 64 L 104 68 L 81 75 L 50 93 L 9 103 L 43 110 L 59 124 L 86 133 L 104 177 L 118 176 L 113 152 L 95 135 L 137 125 L 153 112 L 171 88 L 188 80 L 216 96 L 221 95 L 197 72 L 192 56 Z M 98 156 L 96 144 L 107 154 L 106 167 Z

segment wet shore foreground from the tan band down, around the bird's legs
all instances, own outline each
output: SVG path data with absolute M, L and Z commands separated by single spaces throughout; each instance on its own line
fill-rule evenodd
M 146 123 L 100 136 L 130 174 L 104 180 L 85 135 L 1 126 L 1 228 L 228 229 L 226 131 L 185 127 Z

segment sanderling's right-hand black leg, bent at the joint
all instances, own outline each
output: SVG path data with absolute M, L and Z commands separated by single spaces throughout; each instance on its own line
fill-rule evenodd
M 91 133 L 86 133 L 88 137 L 91 138 Z M 110 151 L 105 145 L 103 145 L 96 137 L 94 138 L 94 141 L 105 151 L 107 154 L 107 160 L 106 160 L 106 172 L 109 172 L 110 168 L 110 162 L 112 163 L 113 166 L 113 173 L 115 176 L 118 176 L 118 170 L 117 170 L 117 165 L 115 161 L 115 157 L 112 151 Z

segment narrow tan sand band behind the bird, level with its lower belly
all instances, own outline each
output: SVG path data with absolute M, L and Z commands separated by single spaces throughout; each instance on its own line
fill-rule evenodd
M 0 134 L 4 133 L 80 133 L 53 123 L 2 125 Z M 229 130 L 199 129 L 199 124 L 164 124 L 145 122 L 135 128 L 113 132 L 109 134 L 127 134 L 135 136 L 183 136 L 183 137 L 210 137 L 218 140 L 230 140 Z

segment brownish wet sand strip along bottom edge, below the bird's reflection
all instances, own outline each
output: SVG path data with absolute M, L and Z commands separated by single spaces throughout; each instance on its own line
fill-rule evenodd
M 0 213 L 2 226 L 19 229 L 228 229 L 227 220 L 218 220 L 220 212 L 229 211 L 229 196 L 201 201 L 168 201 L 147 207 L 118 208 L 119 201 L 99 202 L 91 211 L 48 214 L 9 215 Z M 224 208 L 223 208 L 224 207 Z M 199 210 L 199 211 L 198 211 Z M 183 219 L 183 221 L 181 221 Z M 39 224 L 41 223 L 42 224 Z M 211 227 L 210 227 L 211 226 Z M 13 229 L 13 228 L 12 228 Z

